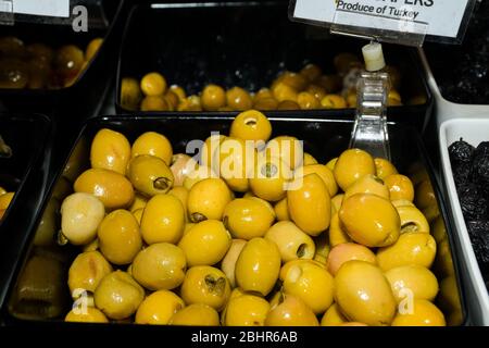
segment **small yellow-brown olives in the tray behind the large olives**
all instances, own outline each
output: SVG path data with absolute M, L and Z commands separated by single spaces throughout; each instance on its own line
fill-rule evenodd
M 241 87 L 224 89 L 214 84 L 205 86 L 199 95 L 188 96 L 158 72 L 145 75 L 140 82 L 131 77 L 122 79 L 121 104 L 127 110 L 141 111 L 243 111 L 243 110 L 313 110 L 356 107 L 356 86 L 362 63 L 351 53 L 340 53 L 335 60 L 336 74 L 323 74 L 316 64 L 308 64 L 300 72 L 283 72 L 256 92 Z M 389 105 L 401 105 L 400 73 L 389 66 L 393 89 Z

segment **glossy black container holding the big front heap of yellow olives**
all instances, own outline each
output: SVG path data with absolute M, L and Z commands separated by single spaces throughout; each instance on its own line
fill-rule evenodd
M 180 114 L 178 116 L 124 115 L 91 119 L 80 132 L 78 140 L 74 146 L 66 164 L 72 171 L 72 175 L 76 175 L 88 167 L 90 144 L 95 134 L 101 128 L 111 128 L 122 132 L 129 141 L 134 141 L 136 137 L 143 132 L 159 132 L 168 137 L 173 144 L 175 153 L 177 153 L 185 152 L 186 144 L 189 140 L 204 140 L 213 130 L 228 134 L 231 120 L 233 116 L 229 114 L 222 115 L 221 117 L 196 117 L 195 115 Z M 303 139 L 304 150 L 313 154 L 323 163 L 328 159 L 337 157 L 341 151 L 347 149 L 352 129 L 352 122 L 327 119 L 304 119 L 302 114 L 292 114 L 290 117 L 271 117 L 271 121 L 274 135 L 291 135 L 299 139 Z M 389 130 L 391 134 L 392 160 L 398 170 L 402 173 L 412 173 L 413 175 L 427 175 L 426 177 L 431 181 L 435 188 L 439 202 L 438 208 L 440 216 L 442 217 L 442 221 L 446 222 L 450 247 L 448 252 L 446 252 L 444 259 L 441 258 L 441 254 L 437 257 L 437 260 L 440 258 L 440 262 L 448 268 L 446 268 L 443 274 L 438 273 L 437 276 L 441 279 L 446 278 L 448 274 L 451 274 L 453 276 L 452 279 L 454 279 L 454 282 L 452 282 L 453 287 L 449 294 L 449 297 L 452 299 L 449 301 L 451 302 L 451 306 L 446 306 L 447 301 L 443 302 L 443 300 L 440 306 L 444 309 L 449 322 L 457 325 L 466 324 L 467 313 L 465 311 L 465 296 L 457 272 L 457 254 L 455 253 L 455 248 L 452 247 L 452 226 L 447 219 L 437 183 L 431 175 L 431 165 L 426 158 L 426 151 L 418 133 L 413 127 L 390 124 Z M 62 175 L 63 172 L 66 173 L 65 170 L 60 171 L 59 173 L 53 189 L 54 194 L 50 192 L 46 196 L 43 202 L 45 208 L 43 210 L 40 210 L 35 219 L 37 224 L 39 224 L 40 220 L 46 222 L 49 219 L 58 219 L 59 221 L 59 216 L 57 216 L 55 211 L 49 209 L 49 204 L 52 203 L 53 199 L 61 202 L 63 198 L 59 197 L 60 190 L 57 190 L 57 187 L 63 186 L 63 182 L 66 181 Z M 65 196 L 68 194 L 70 191 L 64 192 Z M 20 262 L 12 270 L 12 272 L 15 272 L 15 276 L 12 278 L 9 286 L 7 297 L 2 298 L 2 302 L 0 302 L 1 314 L 5 324 L 22 325 L 26 323 L 38 323 L 41 325 L 57 325 L 57 327 L 63 327 L 63 325 L 70 327 L 73 326 L 73 324 L 63 324 L 60 320 L 62 320 L 71 309 L 70 290 L 67 288 L 66 277 L 67 269 L 76 254 L 76 249 L 70 246 L 57 246 L 54 241 L 54 236 L 58 232 L 57 228 L 58 227 L 52 228 L 51 240 L 48 240 L 49 243 L 42 247 L 33 241 L 20 246 L 23 249 L 22 257 L 20 258 Z M 39 240 L 39 236 L 36 233 L 37 229 L 38 227 L 36 225 L 29 234 L 25 234 L 24 238 L 27 240 Z M 23 302 L 20 300 L 18 296 L 18 290 L 21 288 L 20 283 L 25 284 L 26 275 L 24 272 L 26 272 L 25 270 L 27 269 L 26 264 L 29 264 L 29 262 L 34 263 L 33 259 L 35 258 L 50 258 L 51 260 L 54 260 L 50 265 L 55 270 L 50 272 L 49 277 L 51 281 L 48 282 L 51 283 L 45 286 L 49 287 L 49 294 L 58 294 L 58 297 L 34 303 L 28 301 Z M 29 272 L 32 273 L 33 265 L 29 264 L 28 268 L 30 268 Z M 442 272 L 438 266 L 434 268 L 434 272 Z M 32 304 L 37 306 L 37 309 L 33 310 Z M 39 308 L 43 310 L 39 310 Z M 35 315 L 33 315 L 33 313 Z M 76 324 L 74 326 L 76 326 Z M 134 328 L 137 330 L 137 327 Z

